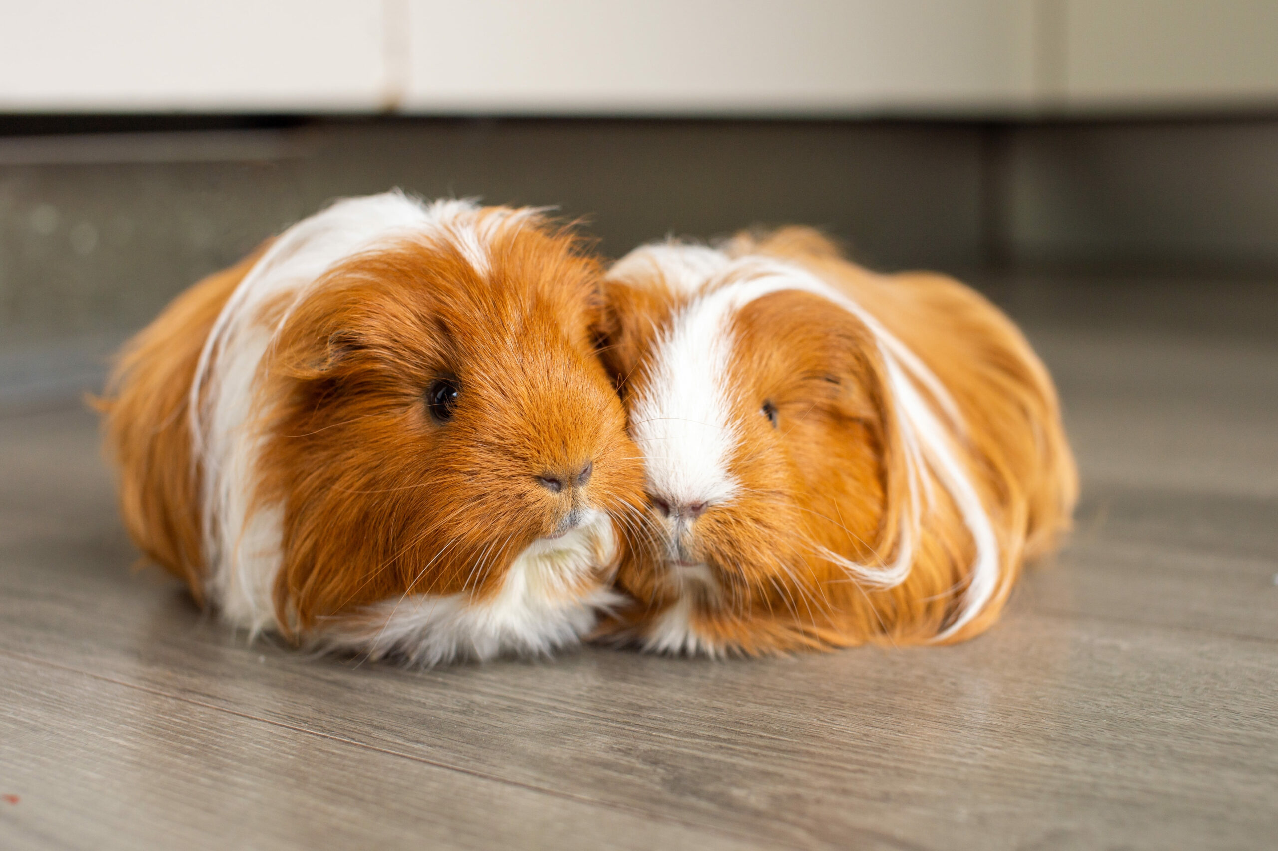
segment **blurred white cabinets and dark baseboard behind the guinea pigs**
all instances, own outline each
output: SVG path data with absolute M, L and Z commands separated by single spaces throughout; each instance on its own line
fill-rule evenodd
M 1266 335 L 1275 45 L 1273 0 L 0 0 L 0 405 L 396 185 Z

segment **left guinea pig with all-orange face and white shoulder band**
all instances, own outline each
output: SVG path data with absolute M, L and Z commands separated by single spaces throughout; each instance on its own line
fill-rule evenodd
M 529 208 L 387 193 L 294 225 L 127 345 L 129 533 L 252 634 L 422 664 L 578 640 L 643 505 L 601 271 Z

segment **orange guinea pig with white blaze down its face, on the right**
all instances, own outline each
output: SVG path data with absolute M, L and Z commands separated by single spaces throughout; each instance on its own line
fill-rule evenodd
M 642 247 L 603 350 L 651 503 L 604 626 L 671 653 L 958 641 L 1076 498 L 1052 379 L 938 275 L 881 276 L 815 231 Z

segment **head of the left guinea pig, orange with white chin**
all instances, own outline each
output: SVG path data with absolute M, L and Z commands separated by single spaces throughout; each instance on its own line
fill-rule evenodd
M 296 635 L 424 663 L 546 652 L 610 602 L 643 501 L 594 351 L 599 268 L 533 211 L 428 212 L 263 303 L 243 528 L 277 523 L 270 594 Z

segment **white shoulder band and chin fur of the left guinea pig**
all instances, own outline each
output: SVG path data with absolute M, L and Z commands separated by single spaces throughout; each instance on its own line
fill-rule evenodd
M 265 440 L 253 419 L 261 364 L 293 308 L 337 263 L 404 238 L 446 240 L 483 275 L 488 271 L 487 244 L 497 231 L 539 212 L 488 210 L 481 216 L 470 201 L 427 204 L 400 192 L 345 199 L 285 231 L 236 286 L 201 350 L 189 400 L 192 457 L 202 468 L 207 590 L 226 620 L 250 635 L 282 626 L 276 624 L 272 601 L 281 564 L 282 507 L 250 512 L 249 501 Z M 288 305 L 268 325 L 263 310 L 280 298 Z M 598 524 L 566 538 L 551 558 L 566 565 L 565 570 L 578 570 L 585 557 L 581 553 L 603 560 L 596 565 L 608 564 L 612 555 L 604 549 L 616 546 L 611 530 L 603 535 Z M 529 590 L 528 576 L 541 575 L 538 571 L 551 564 L 539 546 L 534 543 L 516 557 L 506 586 L 484 606 L 461 595 L 414 595 L 401 608 L 382 612 L 376 631 L 336 630 L 325 640 L 376 653 L 394 649 L 423 663 L 455 656 L 486 658 L 507 649 L 546 652 L 565 644 L 590 627 L 594 610 L 610 598 L 596 592 L 558 604 Z M 573 552 L 576 556 L 565 555 Z

